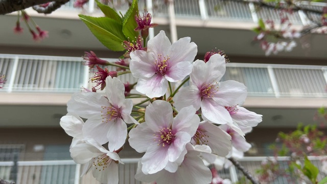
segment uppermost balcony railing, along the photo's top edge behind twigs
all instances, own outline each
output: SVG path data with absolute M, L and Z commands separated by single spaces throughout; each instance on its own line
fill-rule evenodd
M 65 4 L 62 9 L 73 10 L 74 1 Z M 147 2 L 151 2 L 147 7 Z M 94 0 L 90 0 L 89 4 L 95 5 Z M 115 0 L 112 1 L 112 5 L 115 9 L 121 12 L 126 12 L 128 9 L 127 0 Z M 174 0 L 175 16 L 182 18 L 201 18 L 201 19 L 214 19 L 214 20 L 226 20 L 226 21 L 247 21 L 256 22 L 258 18 L 264 20 L 271 19 L 276 22 L 280 21 L 279 14 L 281 11 L 263 8 L 260 11 L 256 10 L 252 3 L 249 2 L 235 2 L 225 0 Z M 152 0 L 139 0 L 139 9 L 152 9 L 153 16 L 168 16 L 168 4 L 165 1 L 152 1 Z M 326 6 L 325 3 L 310 3 L 302 5 L 308 8 L 321 10 Z M 76 9 L 75 9 L 76 10 Z M 97 6 L 91 6 L 88 8 L 89 13 L 99 11 Z M 320 21 L 320 17 L 316 17 L 315 14 L 310 14 L 314 19 Z M 294 12 L 288 15 L 290 21 L 294 25 L 306 25 L 307 19 L 303 12 Z

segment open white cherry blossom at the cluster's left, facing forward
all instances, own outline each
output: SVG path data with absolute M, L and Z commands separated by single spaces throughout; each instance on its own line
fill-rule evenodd
M 126 123 L 137 123 L 131 116 L 133 102 L 125 99 L 124 84 L 118 78 L 107 77 L 105 92 L 80 92 L 67 103 L 67 111 L 87 119 L 83 126 L 86 138 L 95 139 L 100 144 L 109 141 L 110 151 L 120 149 L 127 136 Z

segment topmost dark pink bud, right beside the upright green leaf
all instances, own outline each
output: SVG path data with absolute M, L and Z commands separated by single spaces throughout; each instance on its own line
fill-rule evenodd
M 134 31 L 141 30 L 141 35 L 145 39 L 149 36 L 149 28 L 154 28 L 158 26 L 158 24 L 151 24 L 151 14 L 146 12 L 143 13 L 143 16 L 138 13 L 138 15 L 135 15 L 135 21 L 137 23 L 137 27 L 134 29 Z

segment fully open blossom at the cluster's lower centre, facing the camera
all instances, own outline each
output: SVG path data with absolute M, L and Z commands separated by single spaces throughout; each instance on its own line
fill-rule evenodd
M 171 104 L 166 101 L 156 100 L 147 106 L 145 122 L 129 132 L 128 140 L 137 152 L 145 152 L 142 172 L 154 174 L 185 155 L 185 145 L 191 141 L 199 123 L 192 106 L 182 108 L 175 118 Z

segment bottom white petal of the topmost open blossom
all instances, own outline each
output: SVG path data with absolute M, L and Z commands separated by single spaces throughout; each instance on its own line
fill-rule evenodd
M 168 81 L 164 76 L 155 74 L 150 78 L 138 79 L 136 90 L 149 98 L 164 96 L 168 89 Z

